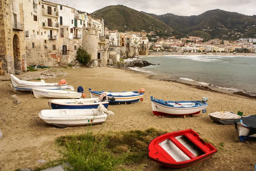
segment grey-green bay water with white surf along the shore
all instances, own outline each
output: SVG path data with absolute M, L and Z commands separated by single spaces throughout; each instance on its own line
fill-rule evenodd
M 149 56 L 143 60 L 161 65 L 137 70 L 256 95 L 256 56 Z

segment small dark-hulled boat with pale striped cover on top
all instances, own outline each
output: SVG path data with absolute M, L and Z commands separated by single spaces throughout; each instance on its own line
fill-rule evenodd
M 233 125 L 236 119 L 241 118 L 241 116 L 237 115 L 234 112 L 214 112 L 209 113 L 210 119 L 214 122 L 221 123 L 223 125 Z

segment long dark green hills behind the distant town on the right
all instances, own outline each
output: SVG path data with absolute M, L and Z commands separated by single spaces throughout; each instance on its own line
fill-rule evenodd
M 145 12 L 144 12 L 145 13 Z M 145 13 L 148 14 L 148 13 Z M 148 14 L 171 26 L 184 35 L 198 35 L 204 38 L 256 38 L 256 16 L 220 9 L 200 15 L 179 16 L 175 14 Z M 196 31 L 196 32 L 195 32 Z M 206 35 L 207 33 L 207 35 Z

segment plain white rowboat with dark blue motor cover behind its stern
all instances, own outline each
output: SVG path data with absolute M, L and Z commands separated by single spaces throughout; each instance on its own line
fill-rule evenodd
M 33 88 L 35 98 L 80 99 L 82 93 L 67 90 L 45 90 Z

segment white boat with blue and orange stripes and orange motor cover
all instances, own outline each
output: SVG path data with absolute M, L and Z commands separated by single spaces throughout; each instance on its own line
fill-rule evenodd
M 140 99 L 143 101 L 144 93 L 139 93 L 138 91 L 129 92 L 105 92 L 105 91 L 92 91 L 89 89 L 91 98 L 99 98 L 102 93 L 106 93 L 108 98 L 115 98 L 115 101 L 109 101 L 110 103 L 121 103 L 121 102 L 137 102 Z

